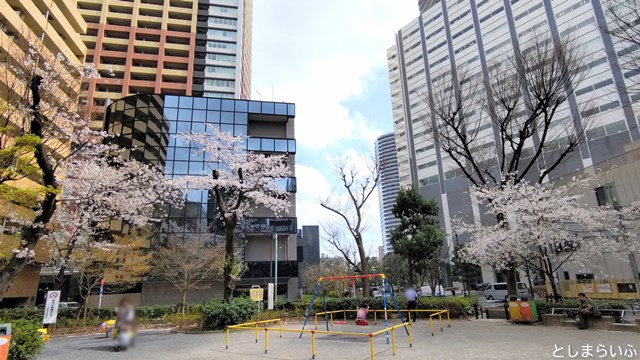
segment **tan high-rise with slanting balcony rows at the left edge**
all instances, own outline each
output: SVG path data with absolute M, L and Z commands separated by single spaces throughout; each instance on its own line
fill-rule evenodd
M 75 8 L 75 3 L 65 0 L 0 0 L 0 57 L 2 62 L 2 74 L 0 76 L 0 127 L 2 131 L 2 149 L 12 145 L 12 140 L 7 138 L 11 134 L 20 134 L 19 131 L 6 131 L 10 127 L 23 126 L 22 121 L 16 121 L 15 109 L 18 105 L 25 105 L 29 101 L 25 99 L 28 93 L 28 79 L 14 77 L 12 67 L 24 66 L 26 51 L 35 51 L 37 58 L 55 63 L 56 56 L 62 55 L 75 65 L 81 65 L 85 60 L 86 47 L 80 34 L 87 30 L 87 24 Z M 27 81 L 25 81 L 27 80 Z M 80 85 L 73 81 L 61 79 L 57 89 L 60 103 L 76 103 L 80 93 Z M 64 91 L 58 91 L 64 89 Z M 28 122 L 27 122 L 28 123 Z M 48 139 L 45 146 L 55 139 Z M 45 140 L 46 141 L 46 140 Z M 51 146 L 56 157 L 68 154 L 68 147 Z M 8 165 L 3 165 L 8 166 Z M 6 180 L 6 179 L 5 179 Z M 34 185 L 31 177 L 25 177 L 16 181 L 5 181 L 3 186 L 14 188 L 32 188 Z M 4 189 L 7 192 L 7 189 Z M 0 199 L 0 222 L 3 223 L 0 239 L 3 242 L 8 236 L 6 228 L 15 219 L 18 205 Z M 17 211 L 18 210 L 18 211 Z M 12 214 L 13 213 L 13 214 Z M 6 226 L 5 226 L 6 225 Z M 40 264 L 48 261 L 46 246 L 40 242 L 35 249 L 34 261 L 28 264 L 13 282 L 9 290 L 3 294 L 0 307 L 32 306 L 36 302 L 38 280 L 40 276 Z

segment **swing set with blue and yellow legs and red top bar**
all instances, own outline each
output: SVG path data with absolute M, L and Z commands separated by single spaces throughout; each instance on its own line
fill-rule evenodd
M 355 276 L 328 276 L 328 277 L 321 277 L 320 279 L 318 279 L 318 283 L 316 284 L 316 287 L 313 291 L 313 296 L 311 297 L 311 303 L 309 303 L 309 308 L 307 309 L 307 314 L 305 316 L 304 319 L 304 324 L 302 325 L 302 330 L 304 331 L 304 328 L 307 326 L 307 323 L 309 321 L 309 317 L 311 316 L 311 312 L 313 311 L 313 304 L 316 301 L 316 298 L 318 297 L 318 292 L 320 292 L 321 296 L 322 296 L 322 308 L 323 308 L 323 315 L 324 315 L 324 320 L 325 320 L 325 325 L 327 327 L 327 331 L 329 331 L 329 317 L 328 314 L 330 314 L 331 312 L 327 311 L 327 299 L 326 299 L 326 291 L 325 291 L 325 283 L 330 282 L 330 281 L 344 281 L 344 280 L 351 280 L 351 281 L 355 281 L 357 279 L 374 279 L 374 278 L 379 278 L 382 281 L 382 304 L 384 306 L 384 323 L 385 323 L 385 328 L 389 327 L 389 317 L 387 316 L 387 305 L 389 303 L 389 300 L 387 300 L 387 294 L 389 294 L 389 298 L 390 301 L 393 303 L 393 306 L 395 308 L 395 310 L 398 312 L 398 317 L 400 318 L 400 321 L 402 324 L 404 324 L 404 318 L 402 316 L 402 311 L 400 311 L 400 307 L 398 306 L 398 302 L 396 301 L 395 295 L 393 294 L 393 288 L 391 287 L 391 284 L 389 282 L 389 279 L 387 279 L 387 277 L 384 274 L 369 274 L 369 275 L 355 275 Z M 355 294 L 354 294 L 355 295 Z M 356 310 L 356 321 L 355 324 L 356 325 L 361 325 L 361 326 L 366 326 L 368 325 L 367 322 L 367 314 L 368 314 L 368 310 L 369 307 L 366 305 L 360 305 L 358 306 L 358 309 Z M 341 311 L 346 311 L 346 310 L 341 310 Z M 331 314 L 332 315 L 332 314 Z M 333 315 L 332 315 L 333 316 Z M 317 318 L 316 318 L 317 320 Z M 406 325 L 403 325 L 405 331 L 407 332 L 407 335 L 409 334 L 409 330 L 407 329 Z M 317 325 L 316 325 L 317 328 Z M 302 334 L 304 332 L 300 333 L 300 338 L 302 338 Z M 389 343 L 389 334 L 387 333 L 387 343 Z

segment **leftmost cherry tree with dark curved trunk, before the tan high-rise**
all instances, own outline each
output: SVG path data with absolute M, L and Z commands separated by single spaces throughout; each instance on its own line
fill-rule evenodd
M 14 202 L 12 196 L 26 194 L 29 201 L 22 205 L 33 209 L 19 219 L 20 245 L 0 269 L 0 297 L 31 261 L 54 216 L 67 160 L 102 136 L 89 128 L 78 103 L 81 81 L 99 77 L 95 67 L 47 54 L 34 42 L 13 44 L 0 58 L 0 195 Z M 20 180 L 30 186 L 21 186 Z

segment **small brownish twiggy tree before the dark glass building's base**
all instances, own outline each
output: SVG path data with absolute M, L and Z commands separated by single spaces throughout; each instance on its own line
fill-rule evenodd
M 178 309 L 187 308 L 187 294 L 211 286 L 211 280 L 220 280 L 225 264 L 221 246 L 203 246 L 200 243 L 170 239 L 154 252 L 153 273 L 167 281 L 180 293 Z

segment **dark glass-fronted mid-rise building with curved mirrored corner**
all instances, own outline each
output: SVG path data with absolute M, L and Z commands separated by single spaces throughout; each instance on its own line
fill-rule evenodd
M 288 155 L 295 166 L 295 105 L 261 101 L 232 100 L 176 95 L 130 95 L 109 105 L 106 130 L 121 146 L 131 148 L 131 156 L 162 167 L 171 177 L 211 176 L 195 148 L 176 139 L 180 132 L 204 132 L 207 124 L 224 132 L 247 136 L 244 149 L 264 154 Z M 292 173 L 294 173 L 292 169 Z M 274 281 L 275 251 L 278 252 L 278 294 L 294 298 L 298 294 L 296 178 L 279 179 L 291 193 L 291 207 L 284 217 L 268 209 L 256 209 L 239 226 L 239 252 L 247 271 L 236 290 L 252 285 L 265 287 Z M 217 216 L 215 196 L 208 190 L 189 191 L 184 207 L 167 209 L 158 239 L 175 236 L 185 241 L 222 241 L 222 223 Z M 117 222 L 116 222 L 117 225 Z M 305 229 L 306 231 L 306 229 Z M 278 234 L 278 249 L 272 239 Z M 155 246 L 152 245 L 152 246 Z M 142 285 L 142 303 L 174 303 L 177 295 L 166 282 L 149 280 Z M 221 294 L 218 284 L 210 290 L 190 295 L 200 302 Z

